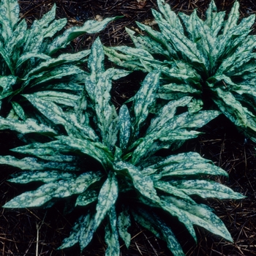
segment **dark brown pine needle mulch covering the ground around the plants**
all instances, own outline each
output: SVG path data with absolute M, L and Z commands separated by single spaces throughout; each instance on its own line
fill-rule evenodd
M 136 28 L 135 20 L 154 26 L 151 8 L 157 9 L 156 0 L 113 0 L 113 1 L 64 1 L 64 0 L 20 0 L 20 17 L 26 18 L 31 24 L 36 18 L 42 17 L 56 2 L 57 18 L 68 19 L 67 26 L 79 26 L 87 19 L 100 19 L 123 15 L 124 18 L 115 20 L 105 31 L 97 35 L 85 35 L 76 39 L 69 50 L 90 48 L 94 39 L 99 36 L 104 45 L 129 45 L 131 41 L 125 33 L 124 27 Z M 197 8 L 200 17 L 204 17 L 209 1 L 204 0 L 173 0 L 169 1 L 176 12 L 191 13 Z M 241 0 L 241 17 L 256 13 L 254 0 Z M 230 10 L 234 1 L 217 0 L 219 10 Z M 255 30 L 253 31 L 255 33 Z M 113 102 L 118 106 L 125 99 L 134 94 L 143 75 L 136 73 L 137 80 L 129 78 L 115 83 L 113 88 Z M 134 77 L 133 77 L 134 78 Z M 138 82 L 138 83 L 137 83 Z M 137 84 L 136 84 L 137 83 Z M 214 163 L 230 175 L 227 180 L 219 178 L 219 182 L 226 184 L 236 192 L 246 195 L 244 200 L 208 200 L 217 216 L 219 216 L 233 237 L 234 243 L 219 239 L 213 234 L 196 227 L 197 245 L 181 227 L 177 229 L 177 236 L 181 241 L 187 256 L 203 255 L 256 255 L 256 159 L 255 144 L 247 141 L 236 132 L 236 128 L 223 116 L 212 121 L 203 128 L 204 135 L 197 140 L 189 141 L 184 149 L 197 151 L 203 157 L 211 159 Z M 9 131 L 0 133 L 0 153 L 8 154 L 10 148 L 20 145 L 20 141 Z M 1 166 L 0 172 L 0 206 L 4 205 L 15 195 L 26 190 L 26 186 L 17 186 L 7 182 L 10 174 L 17 171 L 11 167 Z M 28 188 L 28 187 L 27 187 Z M 29 187 L 29 189 L 33 189 Z M 205 203 L 205 202 L 204 202 Z M 79 211 L 79 210 L 78 210 Z M 65 213 L 65 206 L 61 203 L 49 209 L 19 209 L 0 210 L 0 255 L 9 256 L 102 256 L 106 245 L 104 233 L 98 230 L 94 241 L 83 253 L 78 246 L 63 251 L 56 250 L 61 241 L 69 235 L 75 214 Z M 175 226 L 175 223 L 174 223 Z M 159 241 L 146 230 L 135 226 L 130 230 L 132 243 L 129 249 L 121 244 L 122 256 L 161 255 L 171 253 L 166 249 L 165 243 Z

